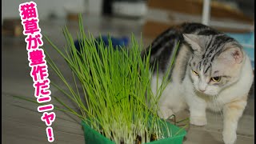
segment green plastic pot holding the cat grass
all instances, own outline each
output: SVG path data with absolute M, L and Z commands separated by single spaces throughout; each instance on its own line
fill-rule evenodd
M 109 138 L 104 137 L 97 131 L 93 130 L 82 121 L 82 126 L 84 130 L 84 136 L 86 144 L 114 144 Z M 183 138 L 186 135 L 186 130 L 167 122 L 169 130 L 171 130 L 173 137 L 165 138 L 158 141 L 148 142 L 149 144 L 182 144 Z M 166 131 L 165 131 L 166 132 Z

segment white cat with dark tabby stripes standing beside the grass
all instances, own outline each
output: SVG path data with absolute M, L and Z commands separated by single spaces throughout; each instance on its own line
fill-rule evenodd
M 250 59 L 234 38 L 210 26 L 195 22 L 173 26 L 142 52 L 145 55 L 150 51 L 150 65 L 154 66 L 151 80 L 154 94 L 170 66 L 177 45 L 170 83 L 159 100 L 159 117 L 166 119 L 188 108 L 190 124 L 205 126 L 206 109 L 221 111 L 222 139 L 226 144 L 233 144 L 238 120 L 245 110 L 254 79 Z

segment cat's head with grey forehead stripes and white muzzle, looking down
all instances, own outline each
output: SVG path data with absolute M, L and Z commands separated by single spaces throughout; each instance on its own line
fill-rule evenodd
M 242 46 L 225 34 L 183 34 L 193 49 L 190 78 L 194 89 L 206 95 L 218 95 L 240 78 L 244 53 Z

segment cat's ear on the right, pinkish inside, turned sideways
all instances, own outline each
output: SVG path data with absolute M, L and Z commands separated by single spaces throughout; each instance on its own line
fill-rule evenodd
M 240 48 L 235 47 L 223 51 L 220 57 L 227 61 L 230 61 L 230 63 L 241 63 L 243 59 L 243 54 Z

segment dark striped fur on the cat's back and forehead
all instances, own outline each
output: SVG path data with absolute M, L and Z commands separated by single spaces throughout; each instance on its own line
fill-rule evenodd
M 213 62 L 214 58 L 222 53 L 225 49 L 223 49 L 223 45 L 227 42 L 236 42 L 234 38 L 230 38 L 217 30 L 212 29 L 209 26 L 202 25 L 201 23 L 183 23 L 180 26 L 174 26 L 170 29 L 164 31 L 160 34 L 157 38 L 154 39 L 154 42 L 151 43 L 151 46 L 146 48 L 147 52 L 150 51 L 150 63 L 151 66 L 154 65 L 154 62 L 158 62 L 158 69 L 160 72 L 165 72 L 166 69 L 169 67 L 168 63 L 170 62 L 170 58 L 174 55 L 175 46 L 178 45 L 179 47 L 182 45 L 190 46 L 183 38 L 182 34 L 197 34 L 197 35 L 214 35 L 214 38 L 210 37 L 210 41 L 206 43 L 204 47 L 206 49 L 205 53 L 202 55 L 202 61 L 200 62 L 199 69 L 201 70 L 202 65 L 206 66 L 207 68 L 204 71 L 205 73 L 210 69 L 210 62 Z M 241 46 L 239 46 L 241 47 Z M 183 81 L 185 78 L 186 66 L 190 55 L 192 54 L 192 50 L 186 52 L 186 58 L 180 63 L 182 65 L 182 74 L 180 77 L 180 82 Z M 178 54 L 180 49 L 178 48 Z M 175 63 L 174 63 L 175 65 Z M 156 70 L 156 66 L 154 66 L 154 72 Z M 173 66 L 174 68 L 174 66 Z M 171 73 L 170 73 L 171 74 Z

